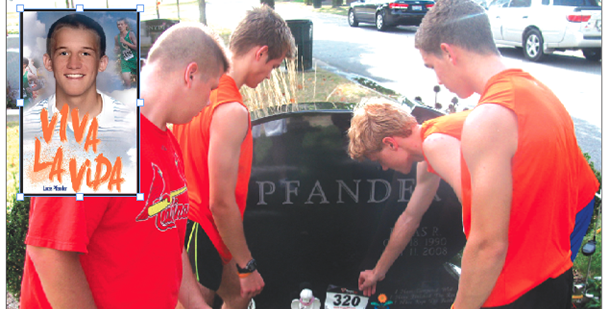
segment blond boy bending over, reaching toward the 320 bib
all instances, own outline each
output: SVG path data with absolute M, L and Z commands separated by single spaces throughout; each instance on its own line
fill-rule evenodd
M 378 162 L 384 170 L 408 174 L 417 164 L 417 184 L 375 268 L 364 270 L 358 288 L 375 294 L 377 282 L 411 241 L 430 207 L 442 177 L 461 200 L 460 137 L 469 111 L 434 118 L 418 125 L 410 111 L 394 103 L 367 103 L 354 110 L 348 131 L 352 159 Z

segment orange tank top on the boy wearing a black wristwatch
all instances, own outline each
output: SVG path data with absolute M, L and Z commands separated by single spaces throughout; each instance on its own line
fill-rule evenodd
M 189 194 L 189 220 L 201 224 L 223 262 L 232 259 L 231 252 L 222 241 L 210 211 L 210 179 L 208 170 L 208 150 L 210 147 L 210 125 L 216 108 L 225 103 L 238 102 L 246 109 L 239 89 L 233 78 L 223 75 L 218 88 L 210 93 L 210 105 L 204 108 L 191 122 L 174 125 L 173 133 L 180 144 L 184 157 L 184 169 Z M 250 117 L 248 116 L 248 122 Z M 252 169 L 252 127 L 248 126 L 246 138 L 241 144 L 235 201 L 242 218 L 246 210 L 248 182 Z

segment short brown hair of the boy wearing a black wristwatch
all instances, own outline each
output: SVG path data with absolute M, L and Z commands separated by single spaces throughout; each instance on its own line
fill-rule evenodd
M 229 49 L 242 56 L 256 46 L 268 46 L 269 58 L 294 57 L 294 37 L 286 21 L 267 5 L 253 8 L 239 22 L 229 40 Z

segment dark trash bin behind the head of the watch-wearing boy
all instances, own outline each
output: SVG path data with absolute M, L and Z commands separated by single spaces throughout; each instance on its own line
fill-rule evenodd
M 309 19 L 287 20 L 286 23 L 297 46 L 297 69 L 299 71 L 311 69 L 313 66 L 313 23 Z

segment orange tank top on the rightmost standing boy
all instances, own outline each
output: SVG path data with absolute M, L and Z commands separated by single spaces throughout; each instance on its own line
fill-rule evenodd
M 508 252 L 483 305 L 492 307 L 510 304 L 572 267 L 570 234 L 574 219 L 599 184 L 578 148 L 572 118 L 552 91 L 532 76 L 516 69 L 497 74 L 488 81 L 481 104 L 512 110 L 519 134 L 512 159 Z M 463 159 L 462 194 L 464 233 L 468 238 L 472 192 Z

